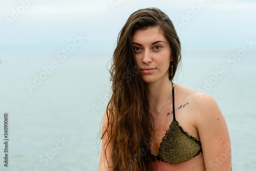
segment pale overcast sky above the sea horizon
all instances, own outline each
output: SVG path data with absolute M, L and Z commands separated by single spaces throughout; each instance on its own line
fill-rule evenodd
M 169 15 L 184 49 L 234 49 L 245 39 L 256 41 L 253 0 L 0 0 L 0 52 L 54 52 L 76 34 L 87 37 L 77 51 L 113 51 L 126 19 L 146 7 Z

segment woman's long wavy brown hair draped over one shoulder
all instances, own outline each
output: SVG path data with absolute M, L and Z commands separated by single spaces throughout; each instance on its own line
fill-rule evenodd
M 152 170 L 150 150 L 154 118 L 143 82 L 134 60 L 132 36 L 136 30 L 159 27 L 172 49 L 173 80 L 181 58 L 181 45 L 172 21 L 158 8 L 140 9 L 121 29 L 110 69 L 112 96 L 107 106 L 108 125 L 102 130 L 106 147 L 111 143 L 111 170 Z M 169 69 L 170 72 L 170 69 Z M 109 111 L 108 111 L 109 110 Z M 153 124 L 154 125 L 154 124 Z M 105 155 L 106 155 L 105 147 Z M 108 161 L 108 159 L 106 159 Z

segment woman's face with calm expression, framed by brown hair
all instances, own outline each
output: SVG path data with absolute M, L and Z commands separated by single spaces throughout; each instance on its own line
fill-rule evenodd
M 144 82 L 168 79 L 172 60 L 169 41 L 158 27 L 135 31 L 133 37 L 135 61 Z

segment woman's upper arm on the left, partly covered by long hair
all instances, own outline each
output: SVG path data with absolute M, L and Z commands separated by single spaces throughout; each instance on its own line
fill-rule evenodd
M 103 121 L 102 121 L 102 131 L 101 131 L 102 133 L 106 129 L 108 122 L 109 122 L 108 117 L 106 116 L 106 112 L 105 112 L 105 114 L 103 116 Z M 100 161 L 99 161 L 99 171 L 110 170 L 108 168 L 108 164 L 110 166 L 112 164 L 112 162 L 111 162 L 112 145 L 111 145 L 111 143 L 109 145 L 105 144 L 107 138 L 108 138 L 108 132 L 106 132 L 104 137 L 102 138 L 102 148 L 101 148 L 101 155 L 100 155 Z M 106 149 L 106 151 L 105 151 L 105 149 Z M 106 158 L 108 159 L 108 161 L 106 161 Z

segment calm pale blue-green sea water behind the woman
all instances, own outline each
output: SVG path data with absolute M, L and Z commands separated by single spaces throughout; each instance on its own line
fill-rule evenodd
M 175 82 L 216 99 L 229 129 L 233 170 L 250 171 L 256 169 L 256 51 L 227 61 L 236 52 L 186 51 Z M 61 61 L 54 53 L 0 55 L 1 142 L 3 115 L 9 114 L 9 163 L 6 168 L 1 161 L 0 170 L 98 169 L 110 56 L 72 54 Z

